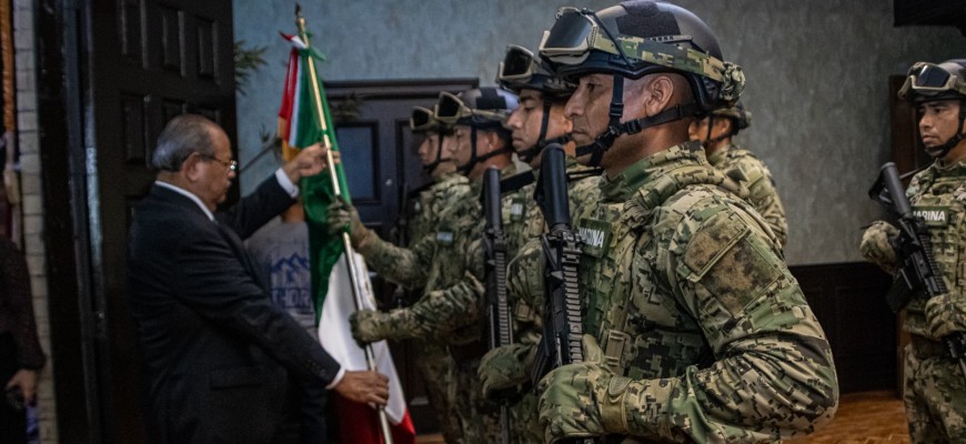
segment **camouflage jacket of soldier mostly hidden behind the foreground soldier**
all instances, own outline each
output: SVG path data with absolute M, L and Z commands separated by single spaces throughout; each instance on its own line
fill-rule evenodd
M 734 143 L 715 151 L 707 157 L 707 161 L 748 189 L 748 201 L 752 206 L 768 223 L 781 246 L 787 245 L 788 220 L 785 218 L 785 208 L 778 198 L 778 190 L 775 189 L 775 180 L 765 162 Z

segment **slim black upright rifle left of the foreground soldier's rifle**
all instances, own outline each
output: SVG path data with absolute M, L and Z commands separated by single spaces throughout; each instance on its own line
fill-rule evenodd
M 500 170 L 483 173 L 483 245 L 486 253 L 486 305 L 490 313 L 490 349 L 513 343 L 510 303 L 506 300 L 506 233 L 503 232 L 503 205 L 500 199 Z M 500 436 L 510 443 L 510 412 L 504 397 L 500 403 Z

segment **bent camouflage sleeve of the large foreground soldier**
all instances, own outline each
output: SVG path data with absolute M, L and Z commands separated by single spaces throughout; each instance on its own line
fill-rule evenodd
M 657 266 L 700 323 L 715 362 L 678 377 L 630 382 L 618 406 L 625 426 L 676 442 L 811 433 L 837 406 L 825 334 L 764 234 L 734 206 L 705 202 L 658 250 Z

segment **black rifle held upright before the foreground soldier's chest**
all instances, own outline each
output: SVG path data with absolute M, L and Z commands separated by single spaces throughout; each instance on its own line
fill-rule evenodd
M 541 236 L 546 258 L 543 273 L 546 310 L 543 337 L 531 371 L 534 384 L 553 369 L 584 360 L 577 285 L 581 249 L 577 235 L 571 226 L 566 167 L 560 144 L 554 143 L 544 149 L 540 175 L 534 199 L 543 212 L 550 232 Z

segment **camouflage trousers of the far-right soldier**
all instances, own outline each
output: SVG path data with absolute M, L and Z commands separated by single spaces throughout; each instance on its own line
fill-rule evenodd
M 966 443 L 966 380 L 942 344 L 906 346 L 904 383 L 912 444 Z

